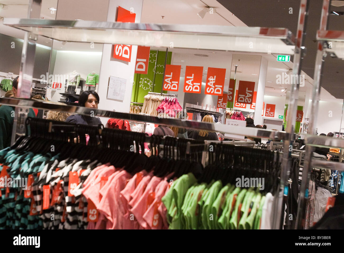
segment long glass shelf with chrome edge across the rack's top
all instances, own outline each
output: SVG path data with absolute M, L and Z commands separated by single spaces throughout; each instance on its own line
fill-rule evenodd
M 94 42 L 294 54 L 295 37 L 285 28 L 144 24 L 5 18 L 3 24 L 68 42 Z

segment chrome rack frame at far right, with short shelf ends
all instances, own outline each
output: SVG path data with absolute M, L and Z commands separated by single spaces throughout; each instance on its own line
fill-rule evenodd
M 316 40 L 318 41 L 318 47 L 315 58 L 314 68 L 314 83 L 312 91 L 312 103 L 311 103 L 311 116 L 309 120 L 308 134 L 305 135 L 306 152 L 304 168 L 302 173 L 302 181 L 300 187 L 300 197 L 298 203 L 297 213 L 297 228 L 302 229 L 302 223 L 305 218 L 305 207 L 308 199 L 308 185 L 310 180 L 310 172 L 312 167 L 317 168 L 330 168 L 334 170 L 343 170 L 343 164 L 341 162 L 319 161 L 312 159 L 312 152 L 314 147 L 335 147 L 344 148 L 344 139 L 316 136 L 316 123 L 317 112 L 319 108 L 320 100 L 320 83 L 322 78 L 322 65 L 325 61 L 327 53 L 333 53 L 333 51 L 341 52 L 344 45 L 344 31 L 329 31 L 329 7 L 330 0 L 323 0 L 320 29 L 316 33 Z M 331 42 L 331 43 L 329 43 Z M 331 45 L 331 46 L 330 46 Z M 337 55 L 338 56 L 338 55 Z M 342 57 L 344 58 L 344 56 Z

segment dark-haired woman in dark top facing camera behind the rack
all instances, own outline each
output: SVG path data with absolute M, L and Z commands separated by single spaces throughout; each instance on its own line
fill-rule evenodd
M 79 96 L 79 106 L 88 107 L 88 108 L 94 108 L 97 109 L 99 104 L 99 96 L 95 91 L 84 91 Z M 98 126 L 98 124 L 101 124 L 101 121 L 99 118 L 94 116 L 85 116 L 85 115 L 79 115 L 74 114 L 69 116 L 66 119 L 66 122 L 74 123 L 74 124 L 82 124 L 82 125 L 89 125 L 89 126 Z

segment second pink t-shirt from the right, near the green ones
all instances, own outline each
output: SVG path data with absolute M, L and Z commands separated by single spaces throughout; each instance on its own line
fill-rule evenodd
M 146 189 L 144 190 L 140 199 L 135 203 L 133 208 L 130 211 L 134 214 L 135 218 L 139 222 L 139 224 L 144 229 L 150 229 L 150 226 L 147 224 L 146 220 L 143 219 L 143 214 L 147 211 L 149 206 L 153 203 L 155 199 L 155 188 L 160 183 L 160 177 L 152 177 L 149 181 Z

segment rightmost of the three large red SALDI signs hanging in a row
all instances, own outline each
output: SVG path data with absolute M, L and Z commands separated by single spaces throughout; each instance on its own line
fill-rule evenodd
M 209 95 L 223 95 L 223 86 L 225 85 L 225 68 L 208 67 L 207 83 L 205 84 L 205 93 Z

